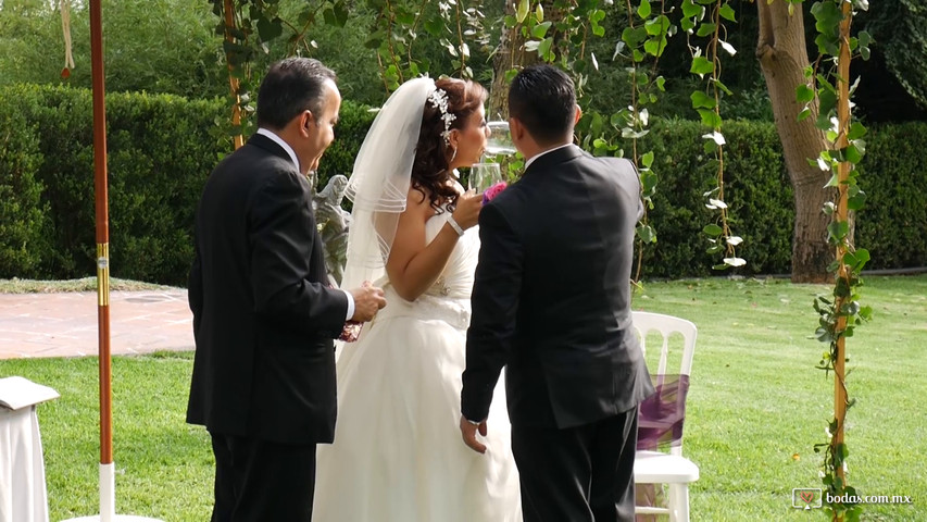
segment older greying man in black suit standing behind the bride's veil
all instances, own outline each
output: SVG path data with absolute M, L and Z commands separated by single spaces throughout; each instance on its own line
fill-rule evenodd
M 340 104 L 321 62 L 275 63 L 258 133 L 216 166 L 197 209 L 187 422 L 212 437 L 213 522 L 310 522 L 315 446 L 334 437 L 333 339 L 386 302 L 379 288 L 329 287 L 312 214 L 305 175 Z

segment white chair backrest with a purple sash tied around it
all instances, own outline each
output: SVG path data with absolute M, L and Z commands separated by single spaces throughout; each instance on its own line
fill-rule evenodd
M 660 358 L 656 369 L 649 365 L 654 378 L 656 394 L 648 398 L 640 408 L 638 449 L 653 449 L 657 440 L 671 440 L 669 452 L 682 455 L 682 423 L 686 414 L 686 394 L 689 388 L 689 375 L 692 371 L 692 356 L 696 351 L 698 328 L 685 319 L 651 312 L 631 312 L 634 326 L 640 338 L 640 349 L 647 357 L 647 340 L 651 334 L 659 333 L 662 337 Z M 671 337 L 676 334 L 682 337 L 681 355 L 678 372 L 667 371 L 671 359 Z M 678 343 L 674 341 L 675 348 Z

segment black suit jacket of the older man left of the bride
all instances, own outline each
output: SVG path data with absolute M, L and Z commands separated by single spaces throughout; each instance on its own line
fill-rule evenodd
M 309 183 L 254 135 L 210 175 L 189 301 L 197 344 L 187 422 L 285 444 L 331 442 L 348 297 L 329 288 Z

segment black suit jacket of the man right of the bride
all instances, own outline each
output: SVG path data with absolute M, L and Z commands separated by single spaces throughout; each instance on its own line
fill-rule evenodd
M 652 393 L 630 315 L 641 213 L 634 165 L 575 146 L 483 208 L 464 417 L 486 419 L 503 365 L 513 425 L 588 424 Z

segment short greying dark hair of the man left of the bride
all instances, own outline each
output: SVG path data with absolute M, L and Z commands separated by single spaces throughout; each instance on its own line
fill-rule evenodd
M 287 58 L 271 65 L 258 90 L 258 126 L 279 130 L 306 109 L 318 119 L 325 80 L 335 72 L 313 58 Z

